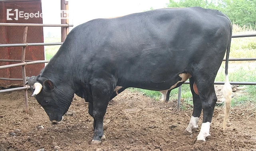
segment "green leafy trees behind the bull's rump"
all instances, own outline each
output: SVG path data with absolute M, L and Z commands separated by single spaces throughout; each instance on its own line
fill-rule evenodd
M 168 8 L 194 7 L 210 8 L 223 12 L 233 23 L 256 28 L 256 0 L 170 0 Z

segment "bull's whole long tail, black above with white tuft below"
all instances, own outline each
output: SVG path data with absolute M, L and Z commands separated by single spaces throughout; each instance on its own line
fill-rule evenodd
M 231 24 L 230 24 L 231 25 Z M 225 66 L 225 84 L 223 87 L 223 95 L 225 98 L 225 110 L 224 110 L 224 120 L 223 120 L 223 129 L 226 128 L 226 121 L 228 120 L 230 108 L 231 108 L 231 95 L 232 95 L 232 88 L 228 81 L 228 58 L 230 52 L 230 43 L 231 43 L 231 36 L 232 36 L 232 26 L 230 27 L 230 40 L 227 47 L 227 54 L 226 54 L 226 66 Z

